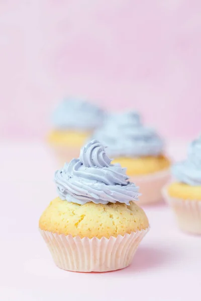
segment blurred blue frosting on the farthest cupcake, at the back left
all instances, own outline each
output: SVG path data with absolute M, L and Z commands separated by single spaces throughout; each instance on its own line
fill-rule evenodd
M 102 124 L 104 111 L 80 99 L 66 98 L 56 108 L 52 123 L 57 129 L 93 130 Z

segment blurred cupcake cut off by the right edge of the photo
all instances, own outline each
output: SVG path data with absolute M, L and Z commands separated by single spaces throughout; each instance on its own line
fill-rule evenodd
M 172 167 L 175 181 L 163 189 L 179 228 L 201 234 L 201 136 L 191 142 L 187 159 Z

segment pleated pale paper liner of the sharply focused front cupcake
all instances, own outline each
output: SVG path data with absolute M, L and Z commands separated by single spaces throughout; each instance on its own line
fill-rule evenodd
M 54 262 L 64 270 L 76 272 L 106 272 L 128 266 L 149 228 L 109 239 L 89 239 L 72 235 L 40 232 L 52 254 Z

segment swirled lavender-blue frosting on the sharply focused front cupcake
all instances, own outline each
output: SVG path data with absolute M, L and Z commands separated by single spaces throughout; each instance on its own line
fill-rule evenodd
M 79 159 L 65 163 L 56 171 L 55 183 L 59 197 L 83 205 L 138 201 L 138 187 L 128 181 L 126 169 L 111 164 L 105 147 L 92 140 L 82 147 Z

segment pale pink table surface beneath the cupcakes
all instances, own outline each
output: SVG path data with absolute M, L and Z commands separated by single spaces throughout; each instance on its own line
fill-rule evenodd
M 185 142 L 172 142 L 175 159 Z M 200 299 L 201 237 L 180 232 L 169 208 L 145 207 L 151 230 L 130 267 L 109 273 L 57 268 L 38 232 L 43 209 L 56 196 L 56 163 L 39 143 L 1 143 L 0 300 Z

